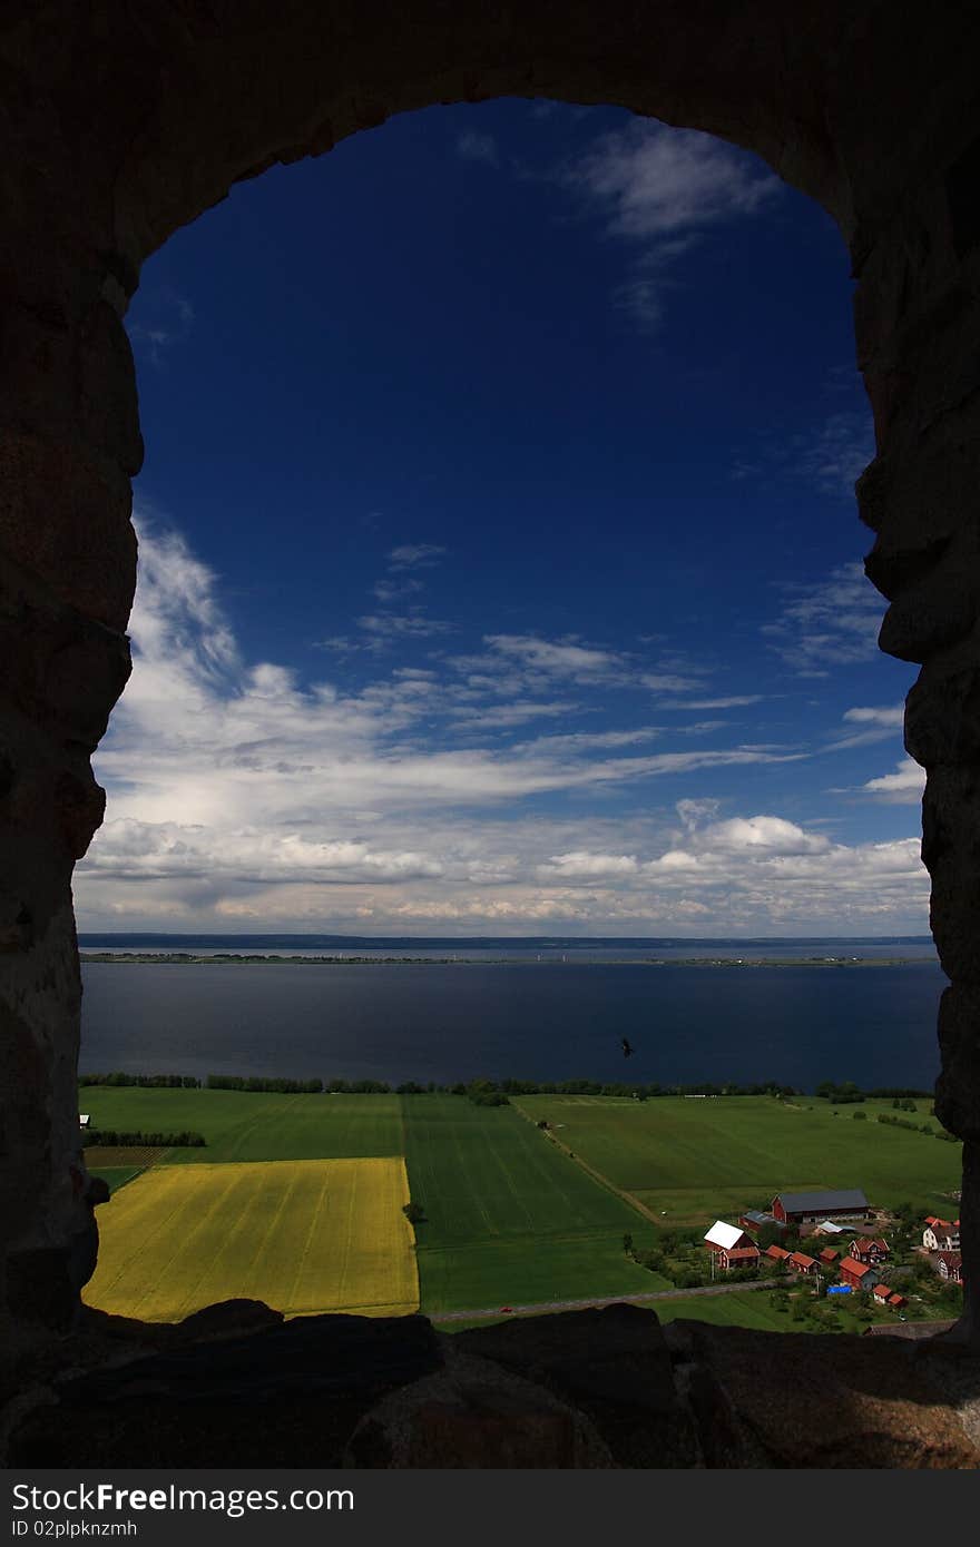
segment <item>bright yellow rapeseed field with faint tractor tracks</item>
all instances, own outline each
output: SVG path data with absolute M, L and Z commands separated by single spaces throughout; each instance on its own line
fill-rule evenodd
M 88 1306 L 180 1321 L 218 1299 L 288 1316 L 418 1310 L 404 1160 L 163 1165 L 99 1208 Z

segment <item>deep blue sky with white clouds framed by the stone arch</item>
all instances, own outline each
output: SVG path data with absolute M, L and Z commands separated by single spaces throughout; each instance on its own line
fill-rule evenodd
M 82 930 L 924 933 L 833 223 L 619 110 L 430 108 L 146 266 Z

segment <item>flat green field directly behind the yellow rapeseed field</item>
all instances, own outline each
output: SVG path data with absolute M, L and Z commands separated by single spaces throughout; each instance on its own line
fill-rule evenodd
M 166 1165 L 228 1160 L 331 1160 L 401 1156 L 396 1095 L 271 1095 L 85 1086 L 93 1128 L 192 1129 L 206 1149 L 170 1149 Z

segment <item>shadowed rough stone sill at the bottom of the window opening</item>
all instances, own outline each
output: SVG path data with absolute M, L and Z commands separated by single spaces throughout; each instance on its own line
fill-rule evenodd
M 93 1313 L 25 1371 L 6 1465 L 980 1465 L 980 1358 L 935 1341 L 664 1330 L 625 1304 L 455 1335 L 420 1315 L 274 1318 Z

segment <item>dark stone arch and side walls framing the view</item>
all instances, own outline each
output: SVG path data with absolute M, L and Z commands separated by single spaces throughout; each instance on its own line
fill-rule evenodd
M 68 0 L 5 22 L 6 393 L 0 442 L 3 1316 L 71 1324 L 91 1196 L 71 1174 L 79 968 L 71 869 L 102 820 L 90 755 L 128 673 L 139 470 L 122 316 L 141 263 L 229 186 L 407 108 L 494 96 L 616 104 L 757 152 L 836 220 L 858 278 L 876 456 L 859 484 L 882 648 L 918 662 L 906 744 L 952 987 L 938 1111 L 965 1140 L 960 1335 L 980 1340 L 980 14 L 768 0 L 638 8 L 438 0 Z

